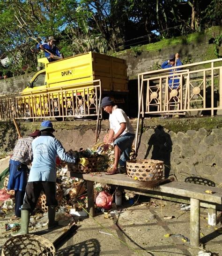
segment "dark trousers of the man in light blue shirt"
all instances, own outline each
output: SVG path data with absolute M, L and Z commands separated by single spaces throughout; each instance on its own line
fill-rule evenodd
M 56 182 L 33 181 L 27 183 L 22 210 L 29 210 L 32 212 L 36 207 L 39 195 L 42 191 L 46 196 L 46 206 L 58 205 L 56 200 Z

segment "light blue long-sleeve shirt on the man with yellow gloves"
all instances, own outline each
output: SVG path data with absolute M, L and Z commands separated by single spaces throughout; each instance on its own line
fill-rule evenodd
M 74 156 L 68 155 L 59 140 L 54 136 L 40 136 L 32 141 L 33 162 L 28 182 L 56 182 L 56 156 L 68 163 L 77 163 Z

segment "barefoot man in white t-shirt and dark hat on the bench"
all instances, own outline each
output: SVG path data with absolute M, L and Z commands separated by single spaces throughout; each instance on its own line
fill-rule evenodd
M 106 172 L 107 175 L 112 175 L 118 173 L 118 164 L 121 169 L 126 168 L 126 161 L 129 160 L 135 133 L 126 113 L 122 109 L 118 109 L 110 97 L 102 99 L 101 107 L 110 114 L 110 131 L 104 149 L 107 148 L 107 145 L 113 143 L 114 165 L 110 171 Z

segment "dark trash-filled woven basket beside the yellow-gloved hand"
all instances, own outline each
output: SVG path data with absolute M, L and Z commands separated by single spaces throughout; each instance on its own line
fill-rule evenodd
M 89 173 L 96 172 L 97 170 L 97 158 L 92 157 L 88 158 L 89 164 L 84 167 L 81 164 L 67 163 L 68 171 L 70 172 L 80 172 L 80 173 Z

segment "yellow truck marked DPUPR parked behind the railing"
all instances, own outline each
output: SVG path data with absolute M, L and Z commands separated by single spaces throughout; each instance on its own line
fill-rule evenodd
M 96 116 L 101 96 L 127 105 L 126 61 L 89 52 L 45 64 L 17 99 L 17 109 L 27 118 Z M 16 112 L 16 111 L 15 111 Z

